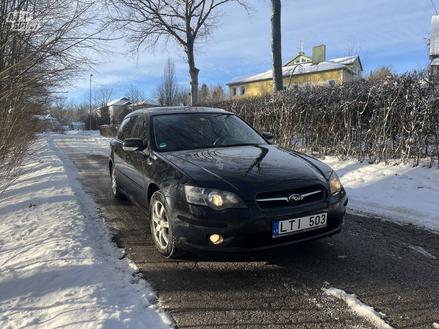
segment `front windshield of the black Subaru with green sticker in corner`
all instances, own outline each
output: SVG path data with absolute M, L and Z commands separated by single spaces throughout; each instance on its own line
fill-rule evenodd
M 233 114 L 156 115 L 152 131 L 159 151 L 266 144 L 252 127 Z

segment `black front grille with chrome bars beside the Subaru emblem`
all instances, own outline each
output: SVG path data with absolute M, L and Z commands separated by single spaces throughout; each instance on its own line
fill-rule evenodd
M 290 200 L 292 195 L 302 199 Z M 261 192 L 256 195 L 256 204 L 262 211 L 274 211 L 317 204 L 326 199 L 326 190 L 321 185 L 302 186 L 294 189 Z

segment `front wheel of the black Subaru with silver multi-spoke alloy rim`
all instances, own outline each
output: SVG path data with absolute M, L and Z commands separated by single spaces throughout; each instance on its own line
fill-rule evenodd
M 186 251 L 176 247 L 170 218 L 166 215 L 168 213 L 163 193 L 155 192 L 149 203 L 151 237 L 155 248 L 163 257 L 175 258 L 185 254 Z

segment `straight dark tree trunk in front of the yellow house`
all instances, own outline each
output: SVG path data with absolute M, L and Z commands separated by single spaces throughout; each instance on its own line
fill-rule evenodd
M 271 64 L 273 66 L 273 91 L 284 88 L 282 76 L 281 0 L 271 0 Z

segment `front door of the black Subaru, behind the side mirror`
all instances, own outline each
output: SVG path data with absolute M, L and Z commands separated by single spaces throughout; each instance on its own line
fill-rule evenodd
M 147 119 L 143 114 L 137 115 L 136 123 L 134 124 L 133 131 L 130 138 L 140 138 L 144 141 L 144 145 L 147 146 Z M 124 151 L 124 168 L 125 175 L 129 180 L 131 195 L 144 207 L 147 206 L 145 186 L 145 167 L 147 166 L 146 160 L 148 158 L 148 150 L 139 151 Z

